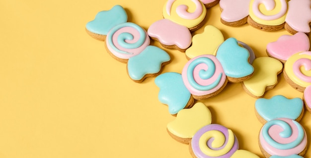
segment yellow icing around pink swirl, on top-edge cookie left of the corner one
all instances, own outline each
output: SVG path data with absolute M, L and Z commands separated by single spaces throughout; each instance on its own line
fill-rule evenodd
M 177 13 L 176 13 L 176 8 L 180 5 L 187 5 L 188 6 L 188 12 L 194 12 L 194 10 L 196 9 L 195 3 L 191 0 L 175 0 L 171 9 L 170 9 L 170 15 L 168 15 L 168 13 L 166 12 L 166 5 L 167 5 L 168 0 L 166 1 L 166 3 L 163 6 L 163 17 L 165 19 L 169 19 L 177 24 L 186 26 L 187 28 L 192 28 L 195 27 L 197 25 L 199 25 L 205 18 L 206 16 L 206 7 L 205 5 L 201 2 L 201 6 L 203 8 L 202 14 L 193 20 L 189 20 L 189 19 L 184 19 L 182 17 L 180 17 Z

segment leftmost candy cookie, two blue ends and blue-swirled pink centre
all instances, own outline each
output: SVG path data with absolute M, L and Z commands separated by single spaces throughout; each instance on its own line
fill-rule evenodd
M 127 63 L 127 73 L 135 82 L 160 74 L 170 56 L 150 46 L 147 32 L 139 25 L 127 22 L 127 14 L 120 5 L 100 11 L 86 24 L 87 33 L 104 41 L 107 52 L 116 60 Z

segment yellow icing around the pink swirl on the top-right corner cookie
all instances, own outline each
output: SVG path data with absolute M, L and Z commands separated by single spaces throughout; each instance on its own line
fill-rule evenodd
M 259 17 L 257 17 L 252 9 L 253 3 L 255 0 L 251 0 L 250 1 L 250 5 L 249 5 L 249 16 L 258 24 L 262 24 L 262 25 L 269 25 L 269 26 L 277 26 L 277 25 L 281 25 L 285 22 L 285 18 L 286 18 L 286 13 L 278 18 L 278 19 L 274 19 L 274 20 L 263 20 Z M 273 10 L 267 10 L 266 7 L 264 6 L 264 4 L 260 4 L 258 6 L 259 10 L 261 13 L 263 13 L 264 15 L 274 15 L 277 14 L 280 10 L 281 10 L 281 0 L 274 0 L 275 1 L 275 8 Z

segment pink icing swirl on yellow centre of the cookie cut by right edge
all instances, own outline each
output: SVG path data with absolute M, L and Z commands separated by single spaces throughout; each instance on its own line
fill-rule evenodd
M 301 66 L 304 66 L 306 71 L 311 71 L 311 60 L 308 58 L 300 58 L 293 65 L 295 75 L 301 80 L 311 83 L 311 76 L 306 76 L 303 74 L 300 70 Z

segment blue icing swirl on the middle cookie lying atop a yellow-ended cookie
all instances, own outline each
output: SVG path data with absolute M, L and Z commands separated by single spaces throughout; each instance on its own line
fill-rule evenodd
M 194 77 L 193 77 L 193 70 L 194 68 L 200 64 L 200 63 L 204 63 L 208 66 L 208 70 L 205 71 L 205 70 L 200 70 L 199 71 L 199 76 L 200 78 L 202 79 L 210 79 L 211 77 L 214 76 L 215 74 L 215 70 L 216 70 L 216 66 L 215 66 L 215 63 L 212 59 L 208 58 L 208 57 L 199 57 L 195 60 L 193 60 L 190 64 L 189 64 L 189 67 L 187 69 L 187 77 L 188 77 L 188 80 L 189 80 L 189 84 L 194 87 L 195 89 L 197 90 L 200 90 L 200 91 L 207 91 L 207 90 L 211 90 L 213 88 L 215 88 L 219 83 L 220 83 L 220 80 L 222 78 L 222 75 L 223 73 L 220 73 L 216 79 L 216 81 L 212 82 L 210 85 L 200 85 L 198 84 Z

